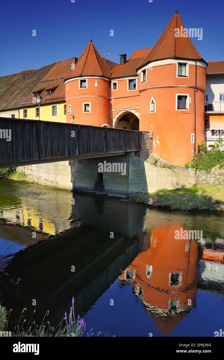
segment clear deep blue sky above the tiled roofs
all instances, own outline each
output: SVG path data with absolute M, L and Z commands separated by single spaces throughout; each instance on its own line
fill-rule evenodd
M 90 38 L 102 56 L 109 44 L 129 57 L 154 45 L 176 8 L 186 28 L 203 28 L 192 39 L 201 56 L 224 60 L 223 0 L 1 0 L 0 76 L 79 57 Z

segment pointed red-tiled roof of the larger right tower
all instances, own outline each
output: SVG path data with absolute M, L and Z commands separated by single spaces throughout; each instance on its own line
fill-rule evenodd
M 176 29 L 180 31 L 179 37 L 175 36 L 175 34 L 178 35 Z M 181 34 L 185 36 L 181 36 Z M 152 50 L 139 64 L 138 69 L 148 62 L 169 58 L 201 60 L 206 63 L 193 45 L 187 32 L 185 32 L 184 24 L 177 9 Z

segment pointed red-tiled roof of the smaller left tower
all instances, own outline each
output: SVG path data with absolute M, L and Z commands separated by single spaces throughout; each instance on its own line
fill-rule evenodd
M 106 65 L 105 59 L 98 53 L 92 39 L 90 39 L 89 44 L 75 64 L 75 69 L 70 71 L 66 79 L 79 76 L 111 76 L 111 71 Z

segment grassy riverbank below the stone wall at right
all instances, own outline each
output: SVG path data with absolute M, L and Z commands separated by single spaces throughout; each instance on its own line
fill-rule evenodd
M 152 201 L 150 201 L 152 199 Z M 174 190 L 158 190 L 155 193 L 133 196 L 129 201 L 171 210 L 219 210 L 224 211 L 224 186 L 209 185 Z

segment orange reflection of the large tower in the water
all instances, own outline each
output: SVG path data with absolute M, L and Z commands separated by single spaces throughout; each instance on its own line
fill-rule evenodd
M 191 309 L 196 292 L 197 245 L 174 239 L 180 227 L 152 230 L 150 247 L 120 277 L 134 285 L 134 294 L 165 329 L 173 328 Z

